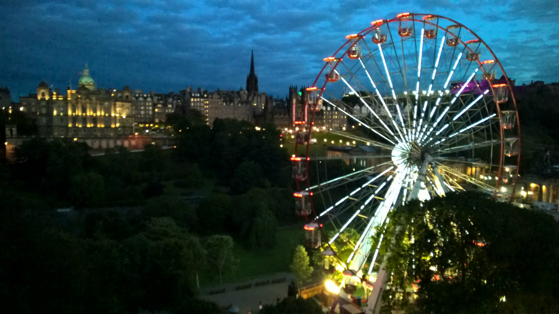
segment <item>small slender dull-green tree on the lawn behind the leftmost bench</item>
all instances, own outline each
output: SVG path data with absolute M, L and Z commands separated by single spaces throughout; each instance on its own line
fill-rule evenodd
M 233 255 L 233 239 L 228 235 L 212 235 L 206 241 L 206 262 L 210 272 L 217 270 L 219 282 L 225 274 L 234 272 L 239 260 Z

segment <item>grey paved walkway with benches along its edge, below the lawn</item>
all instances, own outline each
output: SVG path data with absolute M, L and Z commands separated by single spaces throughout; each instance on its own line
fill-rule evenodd
M 272 283 L 274 279 L 285 278 L 284 282 Z M 287 297 L 287 287 L 294 280 L 295 277 L 291 273 L 278 273 L 273 276 L 264 276 L 254 278 L 249 281 L 235 282 L 229 284 L 222 284 L 210 288 L 200 290 L 200 297 L 217 303 L 220 306 L 234 305 L 239 308 L 240 314 L 245 314 L 248 310 L 253 313 L 258 313 L 258 303 L 262 301 L 263 305 L 276 304 L 277 298 L 280 301 Z M 269 284 L 255 287 L 255 283 L 269 280 Z M 250 284 L 250 288 L 236 290 L 238 286 Z M 224 293 L 210 294 L 211 291 L 216 291 L 225 288 Z

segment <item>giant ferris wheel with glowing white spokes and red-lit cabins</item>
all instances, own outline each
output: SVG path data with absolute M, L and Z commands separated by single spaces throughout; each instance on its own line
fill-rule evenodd
M 291 158 L 297 212 L 345 273 L 374 275 L 375 233 L 406 201 L 461 190 L 515 196 L 513 90 L 490 47 L 461 23 L 414 13 L 374 21 L 324 58 L 302 99 Z M 324 136 L 329 111 L 348 125 Z M 326 156 L 314 153 L 321 144 Z

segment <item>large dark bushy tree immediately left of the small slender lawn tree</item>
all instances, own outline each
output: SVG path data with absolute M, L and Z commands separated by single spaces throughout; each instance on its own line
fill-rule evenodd
M 204 265 L 198 239 L 170 218 L 151 218 L 146 230 L 122 241 L 122 282 L 130 312 L 176 308 L 196 292 Z

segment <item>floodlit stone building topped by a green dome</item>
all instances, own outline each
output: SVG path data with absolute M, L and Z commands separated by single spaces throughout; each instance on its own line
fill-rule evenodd
M 132 90 L 96 88 L 84 69 L 78 89 L 51 90 L 41 82 L 36 94 L 20 97 L 21 110 L 36 119 L 39 136 L 117 137 L 133 134 Z

